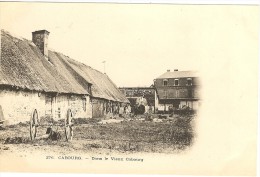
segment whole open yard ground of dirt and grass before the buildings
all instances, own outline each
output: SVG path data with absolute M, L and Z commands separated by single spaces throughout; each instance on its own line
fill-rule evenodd
M 134 119 L 76 119 L 73 140 L 65 140 L 64 128 L 54 126 L 61 139 L 30 140 L 29 122 L 0 129 L 0 156 L 21 157 L 41 154 L 132 154 L 178 153 L 192 146 L 195 116 Z M 47 127 L 38 127 L 37 136 L 46 134 Z

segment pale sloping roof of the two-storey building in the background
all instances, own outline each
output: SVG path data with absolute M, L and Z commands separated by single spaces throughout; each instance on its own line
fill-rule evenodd
M 166 73 L 159 76 L 157 79 L 169 79 L 169 78 L 182 78 L 182 77 L 198 77 L 197 71 L 167 71 Z

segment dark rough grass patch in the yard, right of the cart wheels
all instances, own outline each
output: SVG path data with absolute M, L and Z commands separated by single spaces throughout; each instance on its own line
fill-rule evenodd
M 75 137 L 100 140 L 91 148 L 107 148 L 120 151 L 156 151 L 172 148 L 183 150 L 193 143 L 193 117 L 179 117 L 172 122 L 130 121 L 75 127 Z

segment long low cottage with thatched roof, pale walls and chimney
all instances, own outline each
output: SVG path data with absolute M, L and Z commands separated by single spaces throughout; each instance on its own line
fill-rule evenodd
M 1 30 L 0 106 L 7 123 L 40 117 L 62 119 L 103 116 L 112 104 L 128 103 L 110 78 L 90 66 L 48 49 L 49 32 L 32 33 L 32 41 Z

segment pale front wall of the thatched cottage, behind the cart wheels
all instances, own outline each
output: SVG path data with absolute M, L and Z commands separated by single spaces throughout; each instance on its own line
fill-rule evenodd
M 31 114 L 37 109 L 39 118 L 52 117 L 64 119 L 70 108 L 74 118 L 91 118 L 92 106 L 89 96 L 50 95 L 32 91 L 0 90 L 5 124 L 30 121 Z

